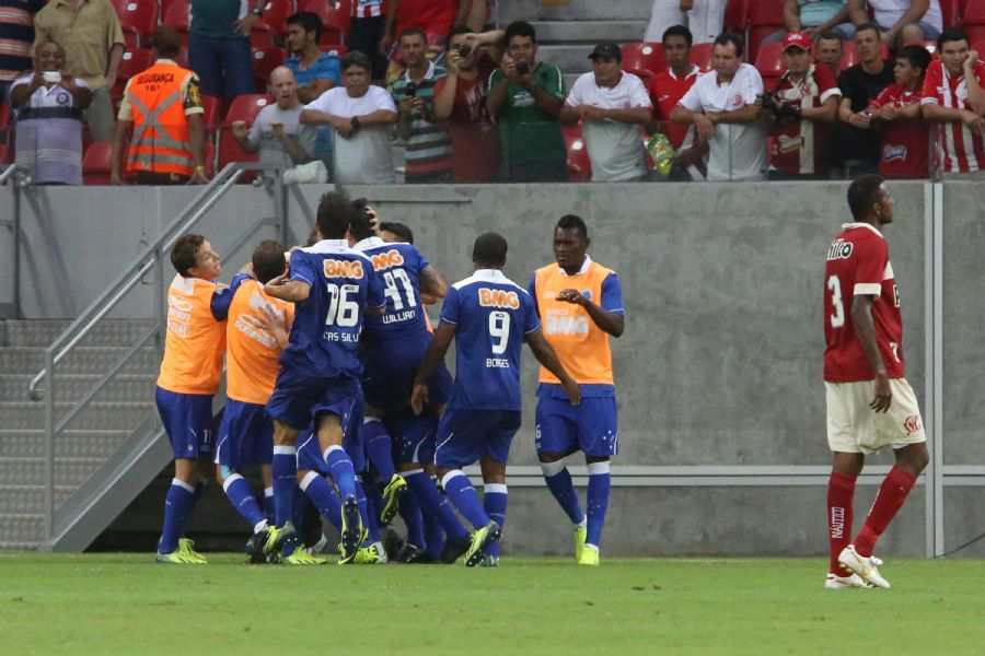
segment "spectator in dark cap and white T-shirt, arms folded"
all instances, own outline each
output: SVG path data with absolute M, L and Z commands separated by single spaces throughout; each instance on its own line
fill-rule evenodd
M 593 183 L 644 179 L 646 149 L 637 126 L 649 121 L 653 110 L 647 87 L 633 73 L 623 72 L 618 44 L 599 44 L 589 59 L 592 72 L 575 82 L 561 107 L 561 122 L 584 121 Z

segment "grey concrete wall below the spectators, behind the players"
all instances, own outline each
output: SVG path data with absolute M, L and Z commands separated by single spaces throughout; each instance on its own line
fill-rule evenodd
M 327 188 L 289 192 L 290 241 L 304 239 L 317 198 Z M 895 221 L 885 234 L 903 296 L 903 351 L 907 378 L 924 403 L 926 189 L 923 183 L 894 183 L 891 189 Z M 410 225 L 418 246 L 449 280 L 471 272 L 472 241 L 496 230 L 510 243 L 507 274 L 526 284 L 534 268 L 553 259 L 551 235 L 557 218 L 571 212 L 586 219 L 592 256 L 619 272 L 625 295 L 627 330 L 613 343 L 619 465 L 823 467 L 828 461 L 821 380 L 823 267 L 832 236 L 848 220 L 844 183 L 395 186 L 347 191 L 369 198 L 384 220 Z M 32 189 L 22 201 L 24 314 L 79 313 L 195 192 Z M 0 207 L 7 194 L 0 189 Z M 981 186 L 947 186 L 949 465 L 981 465 L 985 456 L 978 427 L 985 412 L 976 376 L 983 350 L 978 290 L 985 274 L 975 266 L 985 246 L 983 201 Z M 263 215 L 273 215 L 267 191 L 240 186 L 198 230 L 225 253 L 237 231 Z M 268 234 L 265 229 L 263 236 Z M 248 250 L 223 265 L 228 276 Z M 138 289 L 135 295 L 143 298 L 130 301 L 120 314 L 148 316 L 152 290 Z M 524 364 L 526 420 L 514 442 L 514 465 L 535 464 L 532 363 L 528 359 Z M 891 456 L 870 461 L 885 465 Z M 858 517 L 872 493 L 872 488 L 860 488 Z M 610 552 L 758 553 L 766 542 L 784 553 L 821 553 L 826 543 L 823 495 L 823 488 L 813 484 L 622 488 L 614 495 Z M 982 531 L 981 488 L 948 488 L 945 508 L 949 547 Z M 563 515 L 543 488 L 514 490 L 510 523 L 508 544 L 514 549 L 566 548 Z M 541 530 L 545 523 L 551 528 Z M 625 530 L 629 526 L 634 530 Z M 883 550 L 923 553 L 924 531 L 920 491 Z

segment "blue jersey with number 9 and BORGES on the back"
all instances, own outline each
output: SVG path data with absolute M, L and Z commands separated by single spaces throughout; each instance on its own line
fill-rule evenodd
M 526 290 L 499 269 L 479 269 L 448 290 L 441 321 L 454 324 L 455 410 L 520 410 L 523 336 L 541 327 Z

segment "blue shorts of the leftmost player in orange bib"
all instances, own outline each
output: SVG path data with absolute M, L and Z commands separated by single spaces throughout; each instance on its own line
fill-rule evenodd
M 212 395 L 179 394 L 158 388 L 158 412 L 171 440 L 175 460 L 208 458 L 212 453 L 216 422 Z

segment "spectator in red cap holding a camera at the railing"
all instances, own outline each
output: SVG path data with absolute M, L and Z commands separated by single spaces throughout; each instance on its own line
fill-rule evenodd
M 811 37 L 790 32 L 784 37 L 787 71 L 763 101 L 774 121 L 769 179 L 825 179 L 830 126 L 842 92 L 834 75 L 811 60 Z

